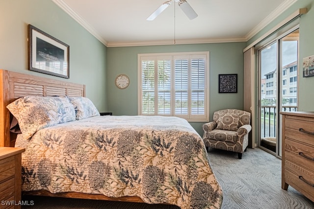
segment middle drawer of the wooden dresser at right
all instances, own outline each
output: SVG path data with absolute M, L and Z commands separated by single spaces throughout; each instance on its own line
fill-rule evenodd
M 314 172 L 314 147 L 286 139 L 285 159 Z

